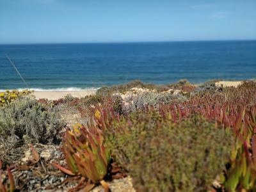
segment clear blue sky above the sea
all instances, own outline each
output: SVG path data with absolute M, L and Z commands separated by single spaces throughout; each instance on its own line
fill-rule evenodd
M 0 0 L 0 44 L 248 39 L 255 0 Z

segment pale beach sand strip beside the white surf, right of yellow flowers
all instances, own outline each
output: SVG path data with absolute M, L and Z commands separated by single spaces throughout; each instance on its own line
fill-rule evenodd
M 85 97 L 86 95 L 94 95 L 97 90 L 81 90 L 81 91 L 42 91 L 34 92 L 36 99 L 56 100 L 70 94 L 73 97 Z

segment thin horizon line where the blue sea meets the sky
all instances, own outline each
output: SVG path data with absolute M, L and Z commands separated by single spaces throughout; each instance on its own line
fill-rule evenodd
M 4 43 L 0 45 L 51 45 L 51 44 L 141 44 L 141 43 L 172 43 L 172 42 L 239 42 L 256 41 L 256 39 L 231 40 L 166 40 L 166 41 L 131 41 L 131 42 L 31 42 L 31 43 Z

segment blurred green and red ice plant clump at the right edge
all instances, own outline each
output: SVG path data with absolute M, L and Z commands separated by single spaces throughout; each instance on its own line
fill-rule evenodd
M 232 128 L 236 143 L 232 146 L 230 168 L 225 186 L 229 191 L 256 190 L 256 108 L 241 109 Z

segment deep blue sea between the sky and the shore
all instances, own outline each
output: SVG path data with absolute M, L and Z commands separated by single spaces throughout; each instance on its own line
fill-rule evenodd
M 255 78 L 256 41 L 0 45 L 0 90 Z

